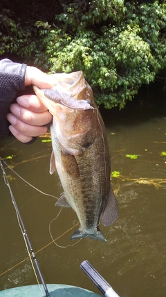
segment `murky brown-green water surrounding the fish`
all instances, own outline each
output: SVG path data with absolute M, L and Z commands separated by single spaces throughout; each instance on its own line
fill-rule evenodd
M 56 242 L 60 246 L 75 243 L 70 240 L 77 229 L 74 211 L 62 209 L 54 220 L 59 213 L 56 198 L 42 195 L 6 168 L 47 283 L 72 284 L 99 293 L 80 269 L 81 262 L 87 259 L 122 297 L 165 296 L 166 156 L 160 153 L 166 151 L 166 106 L 157 88 L 148 100 L 145 97 L 146 90 L 122 111 L 102 111 L 111 151 L 111 171 L 120 172 L 120 177 L 111 180 L 120 216 L 111 227 L 101 225 L 107 243 L 82 239 L 75 246 L 55 246 L 49 226 L 53 238 L 59 238 Z M 48 172 L 50 152 L 50 144 L 42 143 L 41 139 L 33 145 L 23 145 L 14 138 L 1 138 L 0 156 L 13 155 L 8 164 L 21 177 L 58 198 L 62 188 L 58 177 Z M 138 159 L 129 159 L 126 154 L 136 154 Z M 37 281 L 2 173 L 0 177 L 2 290 Z

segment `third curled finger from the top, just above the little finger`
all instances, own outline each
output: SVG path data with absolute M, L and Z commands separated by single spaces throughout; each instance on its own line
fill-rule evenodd
M 21 134 L 24 134 L 25 136 L 39 136 L 42 134 L 45 134 L 47 131 L 47 127 L 41 127 L 41 126 L 33 126 L 33 125 L 28 125 L 25 122 L 22 122 L 19 120 L 15 115 L 12 113 L 8 113 L 6 116 L 10 124 L 17 129 Z

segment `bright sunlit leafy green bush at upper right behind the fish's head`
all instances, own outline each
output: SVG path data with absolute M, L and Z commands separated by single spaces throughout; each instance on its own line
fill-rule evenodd
M 166 4 L 73 1 L 57 15 L 47 54 L 51 72 L 82 70 L 98 104 L 124 107 L 165 67 Z

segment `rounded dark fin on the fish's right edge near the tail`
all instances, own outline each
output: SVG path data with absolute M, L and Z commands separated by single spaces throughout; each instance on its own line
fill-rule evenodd
M 118 218 L 118 214 L 118 202 L 116 200 L 115 194 L 113 193 L 113 189 L 110 188 L 109 198 L 107 200 L 107 203 L 104 205 L 104 209 L 102 211 L 102 224 L 104 226 L 112 225 Z

